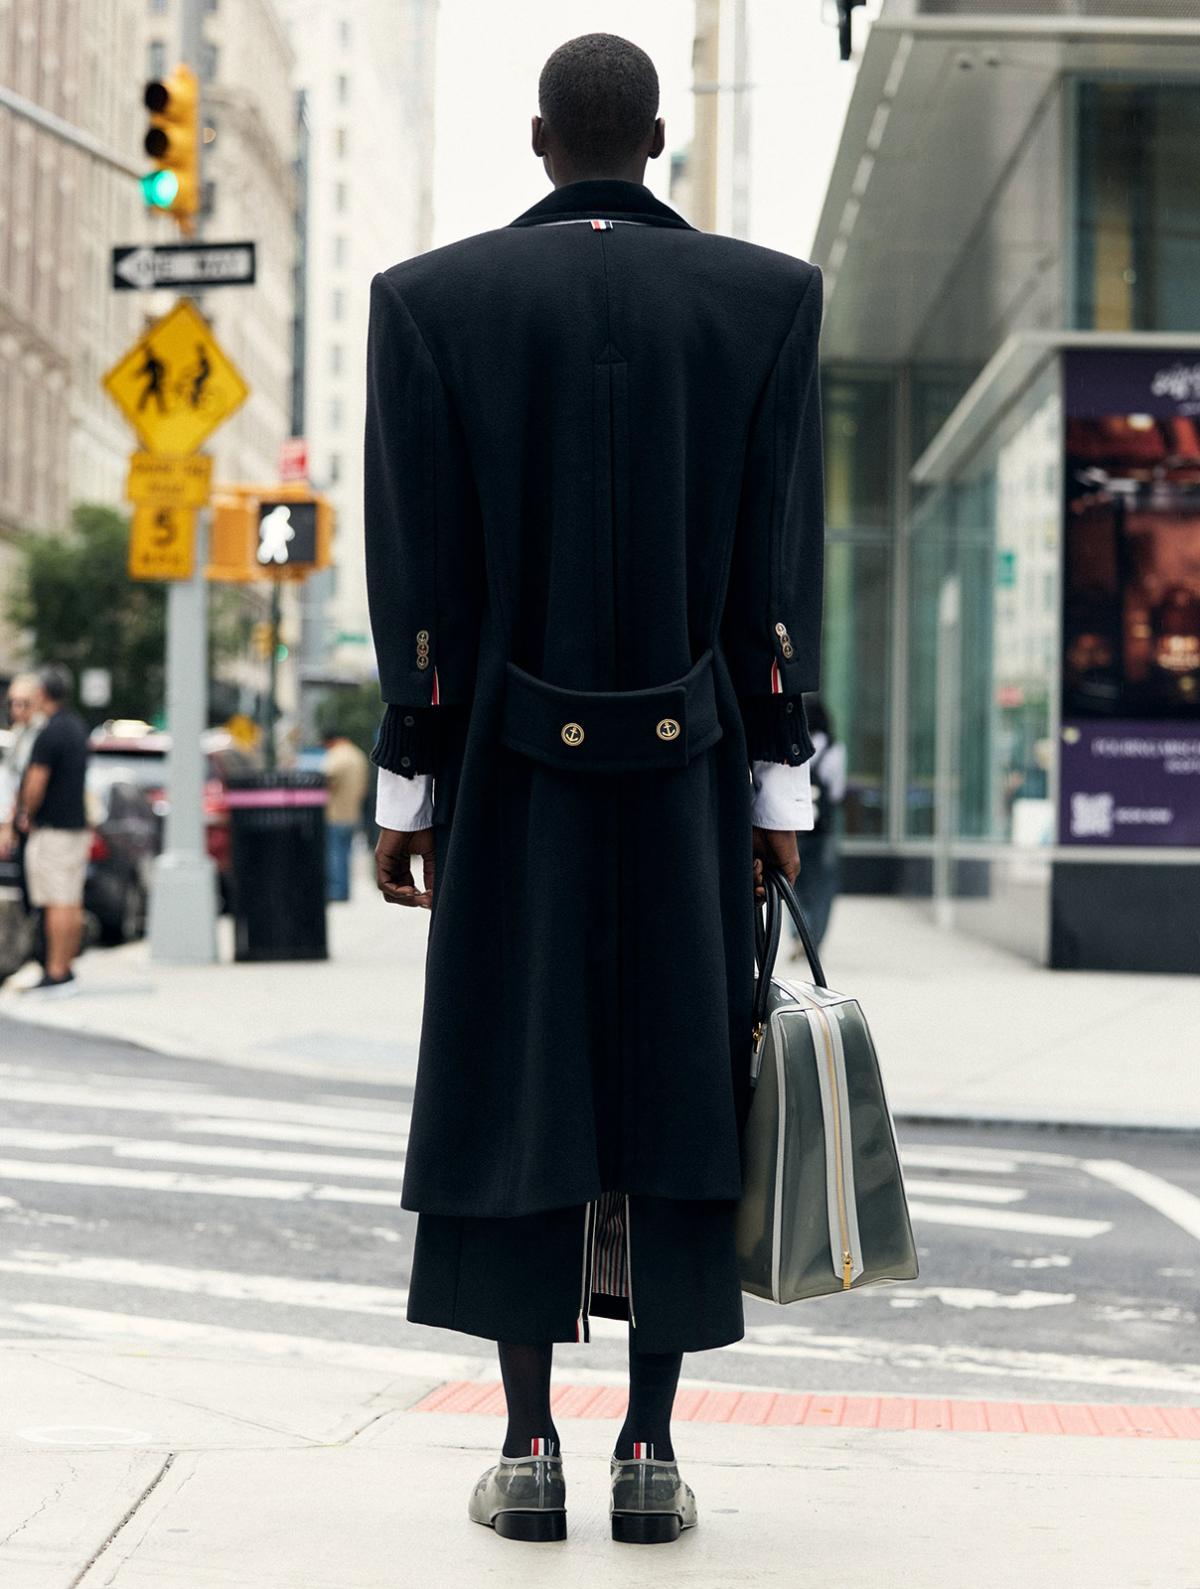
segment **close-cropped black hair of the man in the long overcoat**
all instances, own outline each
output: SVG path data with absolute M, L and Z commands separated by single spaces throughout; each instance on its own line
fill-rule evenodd
M 572 159 L 626 160 L 653 132 L 658 73 L 637 44 L 615 33 L 583 33 L 542 67 L 537 108 Z

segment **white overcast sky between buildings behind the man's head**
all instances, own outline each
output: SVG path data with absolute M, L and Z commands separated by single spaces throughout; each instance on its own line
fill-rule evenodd
M 879 0 L 868 5 L 877 11 Z M 855 38 L 865 35 L 855 13 Z M 750 237 L 807 257 L 854 65 L 833 0 L 749 0 Z M 658 67 L 668 154 L 691 133 L 693 0 L 440 0 L 434 240 L 504 226 L 548 189 L 529 153 L 545 57 L 579 33 L 621 33 Z M 666 197 L 668 154 L 647 181 Z

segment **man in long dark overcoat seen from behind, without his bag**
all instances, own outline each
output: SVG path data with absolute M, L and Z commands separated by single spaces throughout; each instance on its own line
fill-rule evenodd
M 688 226 L 663 148 L 644 51 L 572 40 L 555 191 L 372 284 L 377 877 L 432 910 L 407 1311 L 499 1343 L 469 1516 L 507 1538 L 566 1535 L 553 1343 L 598 1314 L 629 1325 L 612 1535 L 696 1522 L 671 1409 L 744 1333 L 755 893 L 807 802 L 822 273 Z

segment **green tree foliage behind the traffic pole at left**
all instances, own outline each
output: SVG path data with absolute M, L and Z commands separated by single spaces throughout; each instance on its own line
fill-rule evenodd
M 162 710 L 167 593 L 130 580 L 129 520 L 79 502 L 65 534 L 21 543 L 8 621 L 29 634 L 30 663 L 64 663 L 76 685 L 84 667 L 106 667 L 113 698 L 103 717 L 153 720 Z

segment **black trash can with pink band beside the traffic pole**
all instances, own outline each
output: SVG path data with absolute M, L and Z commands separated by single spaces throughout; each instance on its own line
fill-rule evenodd
M 321 772 L 229 779 L 234 958 L 327 960 Z

